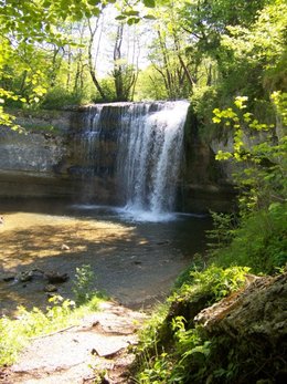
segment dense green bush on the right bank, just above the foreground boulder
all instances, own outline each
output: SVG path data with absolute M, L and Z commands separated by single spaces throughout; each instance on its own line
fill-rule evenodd
M 287 263 L 286 204 L 274 203 L 243 219 L 228 247 L 213 251 L 219 266 L 248 266 L 255 273 L 274 273 Z

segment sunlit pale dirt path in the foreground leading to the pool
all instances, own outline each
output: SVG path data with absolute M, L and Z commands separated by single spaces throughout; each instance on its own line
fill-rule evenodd
M 147 315 L 113 302 L 82 323 L 38 338 L 21 353 L 17 364 L 0 374 L 1 384 L 129 383 L 125 376 L 137 343 L 136 331 Z

